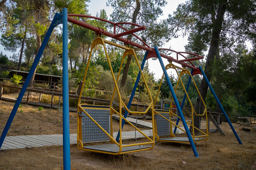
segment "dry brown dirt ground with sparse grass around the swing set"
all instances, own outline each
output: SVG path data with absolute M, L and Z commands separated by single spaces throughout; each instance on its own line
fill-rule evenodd
M 1 134 L 13 106 L 13 102 L 0 101 Z M 62 133 L 62 110 L 47 108 L 39 110 L 36 106 L 25 104 L 21 106 L 8 136 Z M 70 133 L 76 133 L 76 113 L 70 112 L 69 118 Z M 115 128 L 117 125 L 118 123 L 115 122 Z M 228 123 L 222 122 L 220 127 L 226 136 L 219 132 L 210 133 L 207 141 L 196 142 L 200 157 L 194 156 L 190 144 L 182 143 L 157 142 L 151 150 L 117 156 L 83 151 L 76 145 L 71 145 L 71 167 L 75 169 L 256 169 L 256 125 L 244 126 L 233 123 L 233 126 L 243 144 L 238 143 Z M 249 128 L 250 132 L 242 130 L 242 127 Z M 126 128 L 126 131 L 128 130 L 129 127 Z M 3 150 L 0 151 L 0 158 L 0 169 L 61 169 L 63 149 L 62 146 L 45 146 Z

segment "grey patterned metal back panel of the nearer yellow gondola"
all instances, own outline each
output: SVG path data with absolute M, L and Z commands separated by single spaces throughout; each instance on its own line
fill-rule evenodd
M 110 110 L 84 109 L 108 133 L 110 133 Z M 109 140 L 109 136 L 98 127 L 84 112 L 81 117 L 82 142 Z

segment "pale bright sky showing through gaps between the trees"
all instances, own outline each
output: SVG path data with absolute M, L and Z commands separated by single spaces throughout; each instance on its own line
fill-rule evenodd
M 96 16 L 97 13 L 100 13 L 100 10 L 105 9 L 108 15 L 108 18 L 110 18 L 110 14 L 112 13 L 113 9 L 112 7 L 107 7 L 106 2 L 107 2 L 106 0 L 91 0 L 91 2 L 88 3 L 89 13 L 92 16 Z M 168 14 L 173 14 L 173 12 L 176 11 L 176 8 L 178 7 L 179 4 L 185 3 L 185 2 L 186 2 L 185 0 L 167 1 L 167 5 L 162 8 L 163 16 L 160 16 L 159 19 L 166 19 L 168 17 Z M 169 47 L 171 47 L 175 51 L 185 51 L 184 46 L 187 43 L 188 43 L 187 37 L 184 37 L 184 38 L 180 37 L 178 39 L 172 39 L 168 43 L 166 43 L 163 47 L 158 47 L 158 48 L 169 49 Z M 6 54 L 8 57 L 12 56 L 12 53 L 5 51 L 2 45 L 0 45 L 0 51 L 3 51 L 3 54 L 4 55 Z M 175 56 L 172 56 L 172 57 L 175 57 Z M 163 63 L 164 65 L 168 64 L 166 59 L 163 59 Z M 154 73 L 154 78 L 155 79 L 161 78 L 162 70 L 158 60 L 153 61 L 152 59 L 149 59 L 148 64 L 149 64 L 150 72 Z M 168 74 L 174 74 L 174 72 L 168 71 Z

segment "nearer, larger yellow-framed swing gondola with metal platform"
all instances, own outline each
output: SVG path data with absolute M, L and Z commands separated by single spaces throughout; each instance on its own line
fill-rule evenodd
M 107 50 L 105 47 L 105 44 L 109 44 L 111 46 L 115 46 L 117 48 L 121 48 L 125 50 L 121 62 L 121 66 L 119 69 L 119 73 L 117 78 L 115 78 L 114 72 L 112 70 L 112 66 L 110 63 L 110 59 L 107 54 Z M 106 58 L 108 60 L 108 64 L 111 70 L 112 78 L 115 84 L 114 92 L 112 94 L 112 99 L 110 102 L 109 106 L 99 106 L 99 105 L 86 105 L 86 104 L 81 104 L 81 95 L 82 91 L 80 91 L 79 99 L 78 99 L 78 115 L 77 115 L 77 146 L 79 149 L 82 150 L 89 150 L 89 151 L 94 151 L 94 152 L 101 152 L 101 153 L 107 153 L 107 154 L 123 154 L 123 153 L 129 153 L 129 152 L 135 152 L 135 151 L 141 151 L 141 150 L 148 150 L 154 147 L 154 133 L 152 129 L 152 138 L 148 137 L 146 134 L 144 134 L 140 129 L 135 127 L 131 122 L 129 122 L 126 118 L 122 116 L 122 108 L 124 107 L 125 110 L 127 110 L 129 113 L 132 114 L 145 114 L 149 111 L 149 108 L 152 110 L 152 116 L 153 116 L 153 99 L 150 95 L 149 89 L 147 87 L 146 81 L 144 79 L 143 73 L 141 72 L 139 62 L 137 60 L 137 57 L 135 55 L 135 52 L 133 49 L 124 47 L 118 44 L 115 44 L 110 41 L 106 41 L 102 39 L 101 37 L 98 36 L 97 39 L 94 40 L 92 48 L 91 48 L 91 53 L 88 59 L 88 65 L 86 68 L 86 73 L 84 74 L 83 82 L 86 80 L 88 68 L 89 68 L 89 63 L 90 59 L 92 56 L 92 51 L 97 45 L 102 45 L 105 50 Z M 122 101 L 120 91 L 118 88 L 118 79 L 121 73 L 122 65 L 124 62 L 124 59 L 127 55 L 133 55 L 137 66 L 139 68 L 139 71 L 141 72 L 141 76 L 143 78 L 143 81 L 145 82 L 145 87 L 147 89 L 149 98 L 151 100 L 151 103 L 149 104 L 148 108 L 144 112 L 137 112 L 137 111 L 130 111 L 125 103 Z M 81 89 L 83 89 L 83 84 Z M 113 100 L 114 100 L 114 95 L 117 92 L 118 98 L 119 98 L 119 112 L 113 108 Z M 112 114 L 118 114 L 119 115 L 119 131 L 120 131 L 120 140 L 116 140 L 114 138 L 114 132 L 113 132 L 113 125 L 112 125 Z M 146 139 L 146 142 L 140 142 L 140 143 L 130 143 L 130 144 L 123 144 L 122 142 L 122 119 L 124 119 L 128 124 L 130 124 L 134 130 L 140 132 Z M 154 126 L 154 122 L 153 122 Z M 107 144 L 98 144 L 98 145 L 90 145 L 90 146 L 84 146 L 84 142 L 97 142 L 97 141 L 106 141 L 110 140 L 110 143 Z

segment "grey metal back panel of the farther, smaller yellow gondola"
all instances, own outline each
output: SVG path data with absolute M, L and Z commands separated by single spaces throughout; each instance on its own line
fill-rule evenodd
M 160 113 L 160 112 L 159 112 Z M 170 119 L 169 113 L 160 113 L 162 116 Z M 165 136 L 170 135 L 170 123 L 165 120 L 162 116 L 159 114 L 156 115 L 156 126 L 157 126 L 157 135 L 158 136 Z

